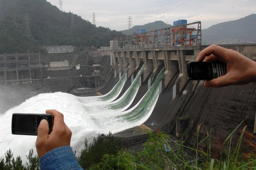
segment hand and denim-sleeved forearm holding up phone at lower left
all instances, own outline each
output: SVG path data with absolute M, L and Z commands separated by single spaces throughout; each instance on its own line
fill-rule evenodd
M 64 116 L 57 110 L 47 110 L 54 117 L 52 132 L 49 134 L 48 121 L 38 126 L 36 148 L 41 170 L 82 170 L 70 147 L 71 130 L 64 122 Z

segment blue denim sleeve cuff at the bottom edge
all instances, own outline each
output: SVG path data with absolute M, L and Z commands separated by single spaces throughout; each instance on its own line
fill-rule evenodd
M 40 170 L 83 170 L 71 147 L 55 148 L 39 159 Z

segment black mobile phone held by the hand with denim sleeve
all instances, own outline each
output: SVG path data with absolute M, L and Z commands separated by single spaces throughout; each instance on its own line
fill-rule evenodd
M 42 119 L 49 123 L 49 134 L 52 132 L 52 114 L 13 113 L 12 134 L 14 135 L 37 135 L 37 128 Z

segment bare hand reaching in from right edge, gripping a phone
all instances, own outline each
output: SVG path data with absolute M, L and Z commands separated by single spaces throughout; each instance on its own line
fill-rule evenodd
M 196 61 L 221 61 L 227 64 L 227 74 L 207 80 L 206 87 L 242 85 L 256 82 L 256 62 L 231 49 L 211 45 L 203 49 Z

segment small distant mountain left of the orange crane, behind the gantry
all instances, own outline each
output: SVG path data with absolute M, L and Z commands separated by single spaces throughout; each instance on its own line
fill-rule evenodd
M 133 26 L 131 29 L 123 30 L 122 33 L 126 34 L 126 35 L 132 35 L 132 34 L 134 34 L 134 32 L 137 32 L 137 30 L 140 30 L 140 29 L 145 29 L 146 32 L 149 32 L 149 31 L 154 31 L 157 29 L 168 28 L 171 26 L 172 25 L 166 24 L 163 21 L 155 21 L 154 23 L 147 23 L 147 24 L 141 25 L 141 26 Z

